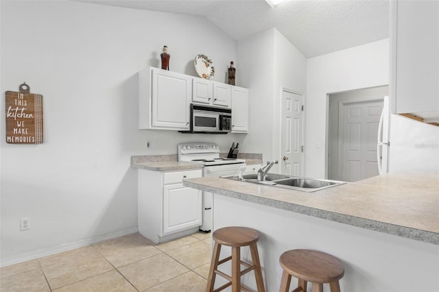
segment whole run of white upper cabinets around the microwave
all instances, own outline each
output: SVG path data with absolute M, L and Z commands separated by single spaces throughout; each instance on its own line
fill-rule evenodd
M 248 132 L 248 89 L 154 67 L 139 72 L 139 129 L 187 131 L 191 103 L 232 108 L 232 132 Z

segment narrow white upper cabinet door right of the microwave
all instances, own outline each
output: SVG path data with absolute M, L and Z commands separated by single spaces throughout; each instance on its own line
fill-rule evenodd
M 248 133 L 248 89 L 232 86 L 232 132 Z

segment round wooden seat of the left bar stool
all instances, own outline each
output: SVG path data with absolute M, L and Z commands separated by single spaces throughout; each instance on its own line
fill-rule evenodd
M 220 245 L 247 246 L 259 240 L 259 233 L 252 228 L 232 226 L 215 230 L 212 238 Z

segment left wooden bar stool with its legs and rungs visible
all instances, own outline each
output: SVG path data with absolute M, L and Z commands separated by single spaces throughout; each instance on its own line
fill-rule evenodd
M 252 270 L 254 270 L 258 292 L 265 292 L 263 287 L 261 263 L 259 263 L 258 247 L 256 244 L 259 240 L 259 233 L 251 228 L 233 226 L 215 230 L 212 234 L 212 238 L 213 241 L 215 241 L 215 245 L 213 247 L 211 269 L 209 270 L 206 292 L 222 291 L 230 285 L 232 286 L 233 292 L 240 292 L 241 290 L 250 291 L 241 285 L 241 276 Z M 221 251 L 222 245 L 232 247 L 232 255 L 219 260 L 219 252 Z M 252 265 L 241 260 L 241 247 L 245 246 L 250 246 Z M 218 271 L 218 265 L 226 263 L 228 260 L 232 260 L 231 277 L 222 271 Z M 246 269 L 241 271 L 241 265 L 244 265 Z M 229 282 L 222 285 L 222 287 L 214 289 L 213 287 L 215 285 L 215 277 L 217 274 L 226 278 Z

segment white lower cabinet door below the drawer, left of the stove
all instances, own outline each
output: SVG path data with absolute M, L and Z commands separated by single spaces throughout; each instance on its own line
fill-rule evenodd
M 202 224 L 202 191 L 183 184 L 163 188 L 163 234 Z

